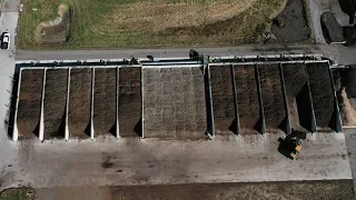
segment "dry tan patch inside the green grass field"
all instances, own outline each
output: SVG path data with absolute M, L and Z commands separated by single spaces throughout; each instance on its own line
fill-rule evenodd
M 111 19 L 110 23 L 121 24 L 127 30 L 152 29 L 157 32 L 168 28 L 200 27 L 224 21 L 246 11 L 256 1 L 258 0 L 215 0 L 209 3 L 139 1 L 119 6 L 108 18 Z

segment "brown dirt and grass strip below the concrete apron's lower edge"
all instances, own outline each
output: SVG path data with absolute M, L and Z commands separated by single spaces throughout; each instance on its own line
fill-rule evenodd
M 38 200 L 353 200 L 353 180 L 36 189 Z

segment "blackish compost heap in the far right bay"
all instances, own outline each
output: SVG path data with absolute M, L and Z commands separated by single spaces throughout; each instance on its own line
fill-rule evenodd
M 306 69 L 309 77 L 316 124 L 319 128 L 332 126 L 334 114 L 334 92 L 327 63 L 309 63 Z

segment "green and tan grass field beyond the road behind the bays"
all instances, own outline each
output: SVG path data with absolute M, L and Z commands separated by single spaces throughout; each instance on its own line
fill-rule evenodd
M 22 0 L 20 49 L 209 47 L 259 42 L 286 0 Z M 71 9 L 69 41 L 38 46 L 36 27 L 60 3 Z

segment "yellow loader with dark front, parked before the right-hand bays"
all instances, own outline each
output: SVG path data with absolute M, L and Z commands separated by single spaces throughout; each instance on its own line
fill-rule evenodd
M 298 157 L 298 153 L 303 149 L 303 144 L 299 138 L 297 137 L 286 137 L 286 139 L 279 138 L 278 151 L 285 157 L 295 160 Z

